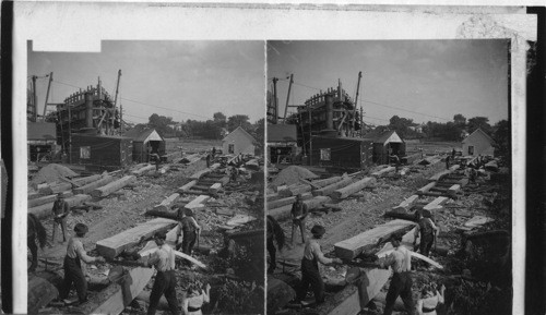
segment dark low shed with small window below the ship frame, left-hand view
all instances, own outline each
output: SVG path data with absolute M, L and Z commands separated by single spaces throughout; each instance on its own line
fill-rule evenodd
M 98 167 L 126 167 L 132 162 L 132 142 L 116 135 L 72 134 L 72 163 Z

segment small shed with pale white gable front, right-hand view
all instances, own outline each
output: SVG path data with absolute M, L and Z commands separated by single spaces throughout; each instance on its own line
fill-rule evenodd
M 399 134 L 391 130 L 382 133 L 368 133 L 364 141 L 373 144 L 372 161 L 378 165 L 389 163 L 389 154 L 403 157 L 406 154 L 406 144 Z

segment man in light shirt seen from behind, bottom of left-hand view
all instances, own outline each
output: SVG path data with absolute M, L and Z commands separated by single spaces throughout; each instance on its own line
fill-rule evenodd
M 150 255 L 147 261 L 141 264 L 143 267 L 154 266 L 157 270 L 154 286 L 152 287 L 152 293 L 150 293 L 147 315 L 155 314 L 157 305 L 159 304 L 159 299 L 163 294 L 165 294 L 167 299 L 170 313 L 174 315 L 180 314 L 178 300 L 176 298 L 177 279 L 175 274 L 175 252 L 169 245 L 165 244 L 166 238 L 167 234 L 165 232 L 155 233 L 154 241 L 158 249 Z

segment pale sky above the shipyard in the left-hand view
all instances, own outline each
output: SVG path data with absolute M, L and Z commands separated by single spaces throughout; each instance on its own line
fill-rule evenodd
M 48 102 L 63 102 L 79 88 L 103 86 L 115 96 L 123 120 L 147 122 L 153 113 L 174 121 L 207 120 L 215 112 L 264 117 L 263 41 L 103 41 L 98 53 L 28 50 L 28 76 L 54 72 Z M 38 113 L 48 78 L 37 80 Z

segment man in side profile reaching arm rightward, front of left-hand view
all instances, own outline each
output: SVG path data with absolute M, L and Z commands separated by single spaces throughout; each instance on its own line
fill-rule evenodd
M 64 256 L 64 281 L 59 292 L 59 298 L 64 300 L 70 293 L 72 283 L 75 286 L 78 292 L 78 300 L 80 303 L 87 301 L 87 280 L 85 279 L 85 270 L 82 269 L 83 261 L 86 264 L 104 263 L 103 257 L 87 256 L 83 249 L 83 238 L 87 233 L 88 228 L 84 223 L 76 223 L 74 227 L 75 237 L 72 237 L 67 245 L 67 255 Z

